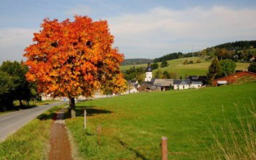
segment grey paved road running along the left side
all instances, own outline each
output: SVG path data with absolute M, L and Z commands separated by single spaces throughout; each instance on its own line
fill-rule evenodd
M 0 142 L 3 141 L 8 135 L 13 134 L 19 128 L 24 126 L 26 123 L 30 122 L 38 115 L 42 114 L 44 111 L 52 108 L 53 106 L 58 106 L 64 104 L 65 102 L 56 102 L 52 104 L 46 104 L 34 108 L 29 108 L 25 110 L 19 110 L 15 112 L 10 112 L 0 116 Z

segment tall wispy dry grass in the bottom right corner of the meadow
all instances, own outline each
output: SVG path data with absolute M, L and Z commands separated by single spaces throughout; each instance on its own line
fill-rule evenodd
M 214 137 L 215 144 L 209 148 L 214 159 L 226 160 L 256 160 L 256 110 L 254 103 L 252 108 L 244 108 L 248 112 L 241 116 L 241 110 L 234 104 L 237 110 L 238 124 L 234 124 L 225 118 L 223 126 L 220 126 L 221 134 L 217 134 L 216 127 L 209 128 Z M 223 108 L 223 107 L 222 107 Z M 224 109 L 223 113 L 224 113 Z M 217 150 L 216 150 L 217 148 Z

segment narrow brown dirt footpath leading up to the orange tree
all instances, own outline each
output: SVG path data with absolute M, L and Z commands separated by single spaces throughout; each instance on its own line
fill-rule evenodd
M 65 109 L 56 114 L 56 120 L 52 123 L 50 131 L 49 160 L 72 160 L 70 142 L 64 124 Z

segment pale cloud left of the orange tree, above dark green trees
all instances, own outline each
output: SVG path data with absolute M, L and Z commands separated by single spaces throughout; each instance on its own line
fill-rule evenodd
M 22 60 L 26 46 L 32 43 L 35 29 L 0 29 L 0 64 L 5 60 Z

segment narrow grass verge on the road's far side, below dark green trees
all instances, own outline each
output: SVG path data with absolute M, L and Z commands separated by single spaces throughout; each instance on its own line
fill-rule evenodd
M 17 111 L 17 110 L 20 110 L 20 109 L 27 109 L 27 108 L 31 108 L 31 107 L 34 107 L 34 106 L 41 106 L 41 105 L 51 104 L 51 103 L 55 103 L 55 102 L 58 102 L 58 100 L 30 101 L 29 106 L 24 105 L 24 106 L 21 107 L 21 106 L 19 106 L 20 105 L 19 101 L 14 101 L 13 102 L 14 108 L 12 110 L 7 110 L 7 111 L 4 111 L 4 112 L 0 112 L 0 115 L 6 114 L 6 113 L 9 113 L 9 112 L 14 112 L 14 111 Z

